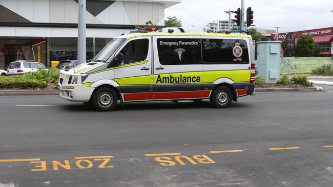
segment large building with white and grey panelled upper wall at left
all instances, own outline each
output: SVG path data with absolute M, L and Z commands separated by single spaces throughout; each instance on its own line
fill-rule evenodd
M 151 20 L 164 25 L 164 9 L 181 0 L 86 0 L 87 59 L 112 38 Z M 0 68 L 15 60 L 77 58 L 78 0 L 0 0 Z M 93 43 L 93 38 L 94 43 Z

